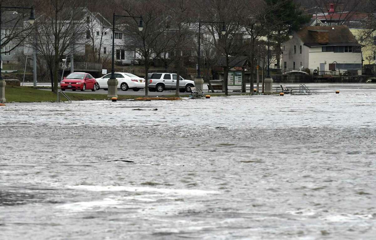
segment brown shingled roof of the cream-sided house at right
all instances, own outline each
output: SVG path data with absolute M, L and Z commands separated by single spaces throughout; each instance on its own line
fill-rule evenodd
M 361 46 L 347 26 L 307 26 L 297 32 L 305 46 Z

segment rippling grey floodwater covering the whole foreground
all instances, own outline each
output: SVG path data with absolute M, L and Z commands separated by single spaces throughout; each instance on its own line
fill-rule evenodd
M 374 239 L 376 85 L 359 86 L 8 103 L 0 239 Z

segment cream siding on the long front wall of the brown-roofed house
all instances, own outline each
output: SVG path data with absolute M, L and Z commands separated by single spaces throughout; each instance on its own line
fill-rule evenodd
M 320 63 L 325 64 L 325 71 L 329 71 L 329 64 L 337 62 L 338 64 L 362 64 L 362 53 L 334 53 L 322 52 L 322 47 L 311 47 L 309 49 L 309 69 L 320 71 Z M 346 69 L 343 69 L 346 71 Z M 342 72 L 342 69 L 341 69 Z M 362 74 L 362 70 L 358 70 Z

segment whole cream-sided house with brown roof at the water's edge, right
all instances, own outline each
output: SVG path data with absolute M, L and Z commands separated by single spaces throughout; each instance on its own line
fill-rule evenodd
M 347 26 L 303 27 L 293 33 L 282 50 L 285 71 L 309 68 L 311 73 L 316 70 L 319 75 L 362 71 L 361 44 Z

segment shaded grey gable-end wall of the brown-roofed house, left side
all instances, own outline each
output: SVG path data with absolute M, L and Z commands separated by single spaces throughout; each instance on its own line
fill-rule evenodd
M 294 46 L 296 46 L 296 53 L 294 53 Z M 302 46 L 302 53 L 300 53 L 300 46 Z M 304 68 L 309 68 L 309 47 L 304 46 L 302 40 L 300 40 L 299 36 L 296 32 L 293 33 L 293 38 L 284 43 L 284 49 L 282 48 L 282 65 L 281 68 L 284 68 L 284 62 L 287 63 L 287 70 L 293 70 L 294 62 L 295 62 L 295 69 L 299 70 L 299 68 L 303 65 Z M 300 62 L 302 65 L 300 65 Z

